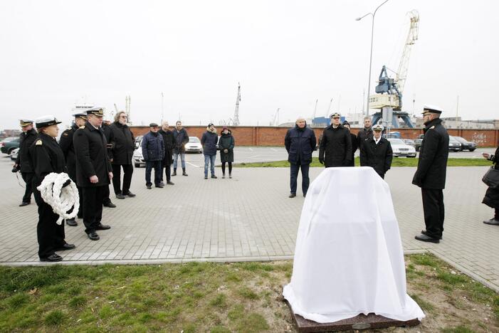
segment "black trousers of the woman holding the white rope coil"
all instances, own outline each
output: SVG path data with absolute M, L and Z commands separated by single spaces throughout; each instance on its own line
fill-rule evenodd
M 41 198 L 39 191 L 34 193 L 38 205 L 38 224 L 36 238 L 38 238 L 38 257 L 47 258 L 56 253 L 56 248 L 65 244 L 64 221 L 59 226 L 56 221 L 59 216 L 52 211 L 52 207 Z

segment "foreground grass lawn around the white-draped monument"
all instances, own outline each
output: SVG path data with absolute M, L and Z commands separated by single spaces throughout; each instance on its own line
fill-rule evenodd
M 425 332 L 499 332 L 499 295 L 454 270 L 406 256 Z M 0 267 L 0 332 L 285 332 L 292 271 L 291 261 Z

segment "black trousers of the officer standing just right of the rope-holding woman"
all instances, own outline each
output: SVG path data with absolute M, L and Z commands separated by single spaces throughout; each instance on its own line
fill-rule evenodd
M 109 186 L 82 187 L 85 233 L 95 232 L 95 228 L 103 219 L 103 198 L 106 189 L 109 191 Z

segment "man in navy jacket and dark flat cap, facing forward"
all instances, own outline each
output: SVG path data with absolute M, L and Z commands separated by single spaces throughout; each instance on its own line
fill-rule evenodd
M 152 188 L 151 172 L 154 168 L 154 186 L 162 188 L 162 167 L 161 162 L 164 158 L 163 136 L 158 133 L 159 126 L 155 122 L 149 124 L 149 133 L 142 137 L 142 157 L 145 160 L 145 186 Z

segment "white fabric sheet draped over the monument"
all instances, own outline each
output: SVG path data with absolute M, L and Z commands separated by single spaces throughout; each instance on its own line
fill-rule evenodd
M 425 317 L 406 293 L 392 196 L 374 169 L 327 168 L 310 184 L 283 296 L 295 314 L 321 323 L 370 312 Z

